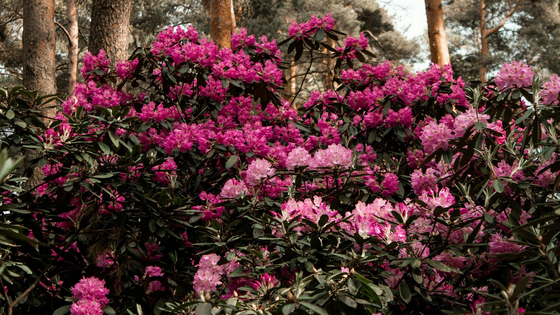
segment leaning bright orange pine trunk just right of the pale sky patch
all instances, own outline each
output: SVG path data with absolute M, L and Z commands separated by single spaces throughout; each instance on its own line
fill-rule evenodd
M 447 47 L 444 10 L 441 6 L 441 0 L 424 0 L 424 3 L 426 3 L 432 62 L 440 66 L 449 64 L 451 58 L 449 57 L 449 47 Z

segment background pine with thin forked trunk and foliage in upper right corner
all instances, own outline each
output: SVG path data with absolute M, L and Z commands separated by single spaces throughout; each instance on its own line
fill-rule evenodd
M 455 74 L 484 81 L 512 59 L 526 61 L 545 76 L 558 72 L 558 5 L 557 0 L 444 1 Z

